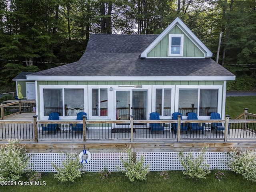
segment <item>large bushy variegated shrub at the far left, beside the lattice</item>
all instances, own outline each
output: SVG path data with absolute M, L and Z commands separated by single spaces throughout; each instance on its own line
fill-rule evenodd
M 15 181 L 22 177 L 28 167 L 25 145 L 18 145 L 20 140 L 8 140 L 8 144 L 0 146 L 0 181 Z

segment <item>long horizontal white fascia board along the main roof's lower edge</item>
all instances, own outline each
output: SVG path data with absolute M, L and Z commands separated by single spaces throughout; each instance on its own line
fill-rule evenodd
M 67 76 L 30 76 L 34 80 L 67 81 Z M 224 81 L 236 76 L 68 76 L 68 81 Z

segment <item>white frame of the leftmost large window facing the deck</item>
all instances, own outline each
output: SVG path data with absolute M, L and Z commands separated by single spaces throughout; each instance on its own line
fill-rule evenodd
M 36 83 L 37 84 L 37 83 Z M 37 86 L 36 86 L 37 87 Z M 44 89 L 84 89 L 84 110 L 87 113 L 88 111 L 88 102 L 87 101 L 87 85 L 39 85 L 40 92 L 40 120 L 48 120 L 48 116 L 44 116 Z M 36 90 L 37 94 L 37 90 Z M 64 95 L 62 95 L 64 97 Z M 38 98 L 36 96 L 36 98 Z M 63 100 L 64 102 L 64 100 Z M 37 106 L 38 107 L 38 106 Z M 64 107 L 64 104 L 63 104 Z M 38 113 L 38 112 L 37 112 Z M 74 120 L 72 116 L 60 116 L 60 120 Z

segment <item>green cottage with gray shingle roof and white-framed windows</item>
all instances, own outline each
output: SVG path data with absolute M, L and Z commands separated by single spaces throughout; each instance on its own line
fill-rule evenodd
M 77 62 L 26 75 L 35 82 L 40 120 L 59 112 L 74 120 L 70 108 L 83 109 L 89 120 L 184 118 L 190 111 L 209 119 L 224 118 L 226 82 L 234 74 L 212 58 L 212 52 L 176 18 L 158 35 L 91 34 Z

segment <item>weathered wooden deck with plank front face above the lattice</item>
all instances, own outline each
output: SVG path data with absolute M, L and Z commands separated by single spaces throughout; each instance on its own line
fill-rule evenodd
M 173 130 L 164 130 L 162 132 L 153 132 L 151 134 L 149 128 L 135 128 L 133 138 L 131 133 L 127 132 L 111 132 L 110 128 L 93 129 L 88 124 L 86 130 L 86 140 L 83 140 L 82 132 L 68 132 L 57 130 L 54 132 L 44 132 L 38 129 L 38 142 L 34 140 L 33 116 L 35 113 L 21 113 L 8 117 L 3 121 L 29 121 L 21 128 L 21 123 L 13 124 L 14 126 L 6 132 L 3 124 L 0 124 L 0 142 L 7 143 L 8 135 L 18 135 L 18 138 L 26 138 L 22 143 L 26 144 L 28 152 L 31 153 L 52 153 L 52 152 L 70 152 L 70 150 L 80 151 L 86 148 L 91 152 L 124 152 L 127 145 L 131 145 L 135 152 L 177 152 L 177 151 L 200 151 L 205 143 L 209 144 L 209 151 L 225 152 L 231 147 L 256 149 L 256 135 L 245 129 L 230 130 L 228 139 L 224 142 L 224 131 L 215 130 L 201 132 L 188 131 L 188 134 L 182 132 L 180 140 Z M 255 123 L 255 120 L 254 120 Z M 6 126 L 6 125 L 4 125 Z

